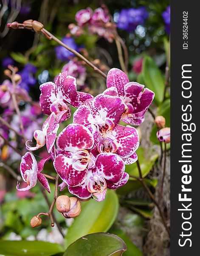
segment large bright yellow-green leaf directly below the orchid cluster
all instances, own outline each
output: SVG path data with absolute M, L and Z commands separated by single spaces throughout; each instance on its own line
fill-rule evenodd
M 118 197 L 113 190 L 108 190 L 104 201 L 91 199 L 82 202 L 82 212 L 75 218 L 65 237 L 66 245 L 82 236 L 96 232 L 107 232 L 113 225 L 118 213 Z

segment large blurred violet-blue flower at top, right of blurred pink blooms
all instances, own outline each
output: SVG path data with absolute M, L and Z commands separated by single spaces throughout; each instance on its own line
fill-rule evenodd
M 122 9 L 119 13 L 117 27 L 127 32 L 132 32 L 139 24 L 143 24 L 147 17 L 148 12 L 146 12 L 144 7 L 138 9 Z

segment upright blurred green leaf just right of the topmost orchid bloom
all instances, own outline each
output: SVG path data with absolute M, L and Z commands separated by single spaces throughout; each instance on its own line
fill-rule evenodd
M 155 93 L 154 102 L 156 105 L 159 105 L 163 101 L 165 87 L 161 70 L 159 70 L 155 61 L 149 56 L 144 57 L 142 70 L 141 76 L 144 84 Z M 141 76 L 139 79 L 141 79 Z

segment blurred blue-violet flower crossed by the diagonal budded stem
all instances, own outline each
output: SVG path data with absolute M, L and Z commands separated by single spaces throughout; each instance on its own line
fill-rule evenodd
M 78 45 L 75 43 L 74 39 L 71 37 L 62 38 L 62 42 L 76 51 L 79 50 Z M 73 57 L 74 55 L 72 52 L 68 51 L 61 45 L 56 46 L 55 51 L 56 51 L 56 57 L 61 61 L 69 61 L 69 58 Z

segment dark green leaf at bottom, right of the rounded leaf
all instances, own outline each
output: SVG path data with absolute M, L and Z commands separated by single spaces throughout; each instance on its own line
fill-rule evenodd
M 122 230 L 112 230 L 112 232 L 119 236 L 127 245 L 127 250 L 123 253 L 123 256 L 142 256 L 141 251 L 135 244 L 130 241 L 130 238 Z

